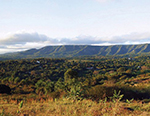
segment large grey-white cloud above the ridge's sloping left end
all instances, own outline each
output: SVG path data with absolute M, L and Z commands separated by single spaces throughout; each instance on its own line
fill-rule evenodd
M 44 34 L 36 32 L 16 32 L 8 33 L 4 38 L 0 39 L 0 54 L 6 52 L 16 52 L 31 48 L 40 48 L 47 45 L 57 44 L 57 39 L 52 39 Z

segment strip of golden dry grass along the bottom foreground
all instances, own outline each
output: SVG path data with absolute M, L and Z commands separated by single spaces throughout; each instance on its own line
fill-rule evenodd
M 3 112 L 4 116 L 150 116 L 149 111 L 150 103 L 142 104 L 137 101 L 128 104 L 66 98 L 54 101 L 27 100 L 20 109 L 17 102 L 0 102 L 0 114 Z

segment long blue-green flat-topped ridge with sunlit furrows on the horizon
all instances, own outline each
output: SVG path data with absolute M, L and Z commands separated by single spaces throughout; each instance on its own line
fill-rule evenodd
M 18 53 L 4 54 L 1 58 L 68 58 L 79 56 L 111 56 L 111 55 L 141 55 L 150 53 L 150 44 L 141 45 L 62 45 L 46 46 L 40 49 L 29 49 Z

